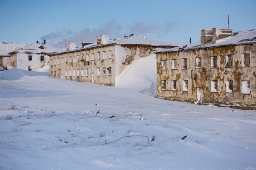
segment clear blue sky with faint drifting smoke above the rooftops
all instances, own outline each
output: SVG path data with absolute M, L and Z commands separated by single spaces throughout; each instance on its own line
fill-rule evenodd
M 137 34 L 174 44 L 200 41 L 201 29 L 256 28 L 256 0 L 0 0 L 0 41 L 95 42 Z

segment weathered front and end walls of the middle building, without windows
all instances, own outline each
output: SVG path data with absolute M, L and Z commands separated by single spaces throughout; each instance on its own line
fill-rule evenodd
M 134 60 L 140 59 L 141 57 L 148 57 L 156 50 L 163 49 L 164 48 L 153 48 L 146 45 L 107 45 L 93 49 L 69 51 L 64 54 L 54 54 L 50 57 L 50 76 L 79 82 L 93 82 L 96 84 L 114 86 L 115 78 Z M 109 51 L 111 51 L 110 57 Z M 100 59 L 98 59 L 97 56 L 98 52 L 100 54 Z M 104 52 L 105 59 L 103 59 Z M 89 56 L 88 61 L 86 61 L 87 54 Z M 91 59 L 92 54 L 94 54 L 94 60 Z M 81 61 L 82 56 L 84 58 L 83 61 Z M 71 62 L 69 61 L 70 57 L 72 59 Z M 79 62 L 77 62 L 78 57 L 80 60 Z M 63 63 L 61 63 L 62 58 L 64 60 Z M 98 68 L 100 70 L 99 76 L 97 76 Z M 106 72 L 105 75 L 103 75 L 104 68 Z M 111 68 L 111 74 L 109 74 L 108 68 Z M 88 69 L 88 76 L 86 76 L 86 69 Z M 69 74 L 70 71 L 71 75 Z

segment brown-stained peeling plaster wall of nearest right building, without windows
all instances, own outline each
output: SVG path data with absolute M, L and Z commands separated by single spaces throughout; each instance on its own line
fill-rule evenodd
M 201 88 L 200 102 L 256 105 L 256 44 L 232 45 L 193 51 L 157 54 L 157 96 L 197 101 L 197 88 Z M 242 67 L 242 53 L 250 53 L 250 66 Z M 233 67 L 225 67 L 225 56 L 233 55 Z M 211 56 L 217 56 L 218 67 L 211 68 Z M 196 68 L 196 57 L 202 66 Z M 187 69 L 182 69 L 182 58 L 187 58 Z M 172 59 L 177 59 L 177 69 L 172 70 Z M 162 70 L 161 61 L 166 60 Z M 166 90 L 161 81 L 166 80 Z M 172 90 L 172 80 L 177 80 L 177 90 Z M 182 81 L 188 80 L 188 91 L 182 91 Z M 218 91 L 211 92 L 210 81 L 218 81 Z M 226 92 L 226 81 L 233 80 L 233 93 Z M 250 81 L 250 94 L 241 94 L 241 81 Z

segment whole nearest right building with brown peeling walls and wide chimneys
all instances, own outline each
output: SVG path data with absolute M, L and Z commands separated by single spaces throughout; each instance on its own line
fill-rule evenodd
M 256 109 L 256 29 L 204 29 L 201 42 L 156 55 L 157 97 Z

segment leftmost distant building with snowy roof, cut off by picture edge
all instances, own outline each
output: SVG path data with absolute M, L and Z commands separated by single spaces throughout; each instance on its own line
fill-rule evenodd
M 0 67 L 3 70 L 12 68 L 11 55 L 8 53 L 25 46 L 26 44 L 9 44 L 8 42 L 0 43 Z

